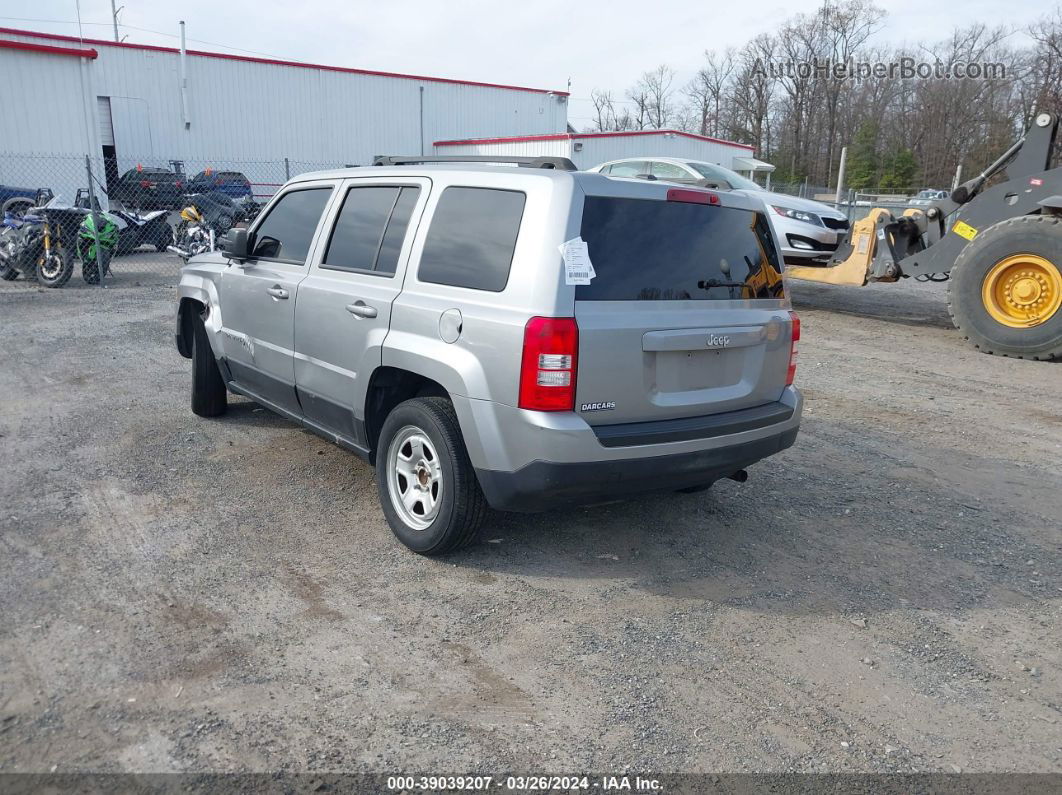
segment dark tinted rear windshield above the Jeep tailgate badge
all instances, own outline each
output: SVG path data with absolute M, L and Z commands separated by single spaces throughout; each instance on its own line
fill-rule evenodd
M 778 298 L 767 217 L 718 205 L 586 196 L 581 236 L 597 276 L 576 300 Z

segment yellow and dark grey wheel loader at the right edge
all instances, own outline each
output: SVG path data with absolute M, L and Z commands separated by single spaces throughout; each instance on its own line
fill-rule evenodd
M 1051 168 L 1058 128 L 1057 114 L 1040 114 L 948 198 L 901 215 L 875 208 L 852 225 L 828 264 L 792 266 L 787 276 L 855 287 L 949 280 L 952 321 L 977 348 L 1062 359 L 1062 167 Z

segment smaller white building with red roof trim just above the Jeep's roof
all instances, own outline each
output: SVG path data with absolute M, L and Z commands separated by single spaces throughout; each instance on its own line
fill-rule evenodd
M 678 129 L 637 129 L 622 133 L 560 133 L 492 138 L 436 140 L 436 155 L 495 155 L 568 157 L 580 169 L 624 157 L 681 157 L 704 160 L 743 174 L 770 173 L 773 166 L 753 157 L 746 143 L 724 141 Z

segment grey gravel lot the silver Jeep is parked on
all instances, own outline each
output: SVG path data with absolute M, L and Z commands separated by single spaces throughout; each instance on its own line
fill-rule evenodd
M 355 456 L 191 414 L 135 263 L 0 292 L 0 771 L 1062 772 L 1062 365 L 941 286 L 794 289 L 748 483 L 431 560 Z

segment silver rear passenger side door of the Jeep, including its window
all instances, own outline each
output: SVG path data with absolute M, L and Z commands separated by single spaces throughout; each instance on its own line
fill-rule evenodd
M 430 180 L 353 178 L 340 189 L 295 307 L 295 384 L 307 419 L 363 447 L 367 379 Z

